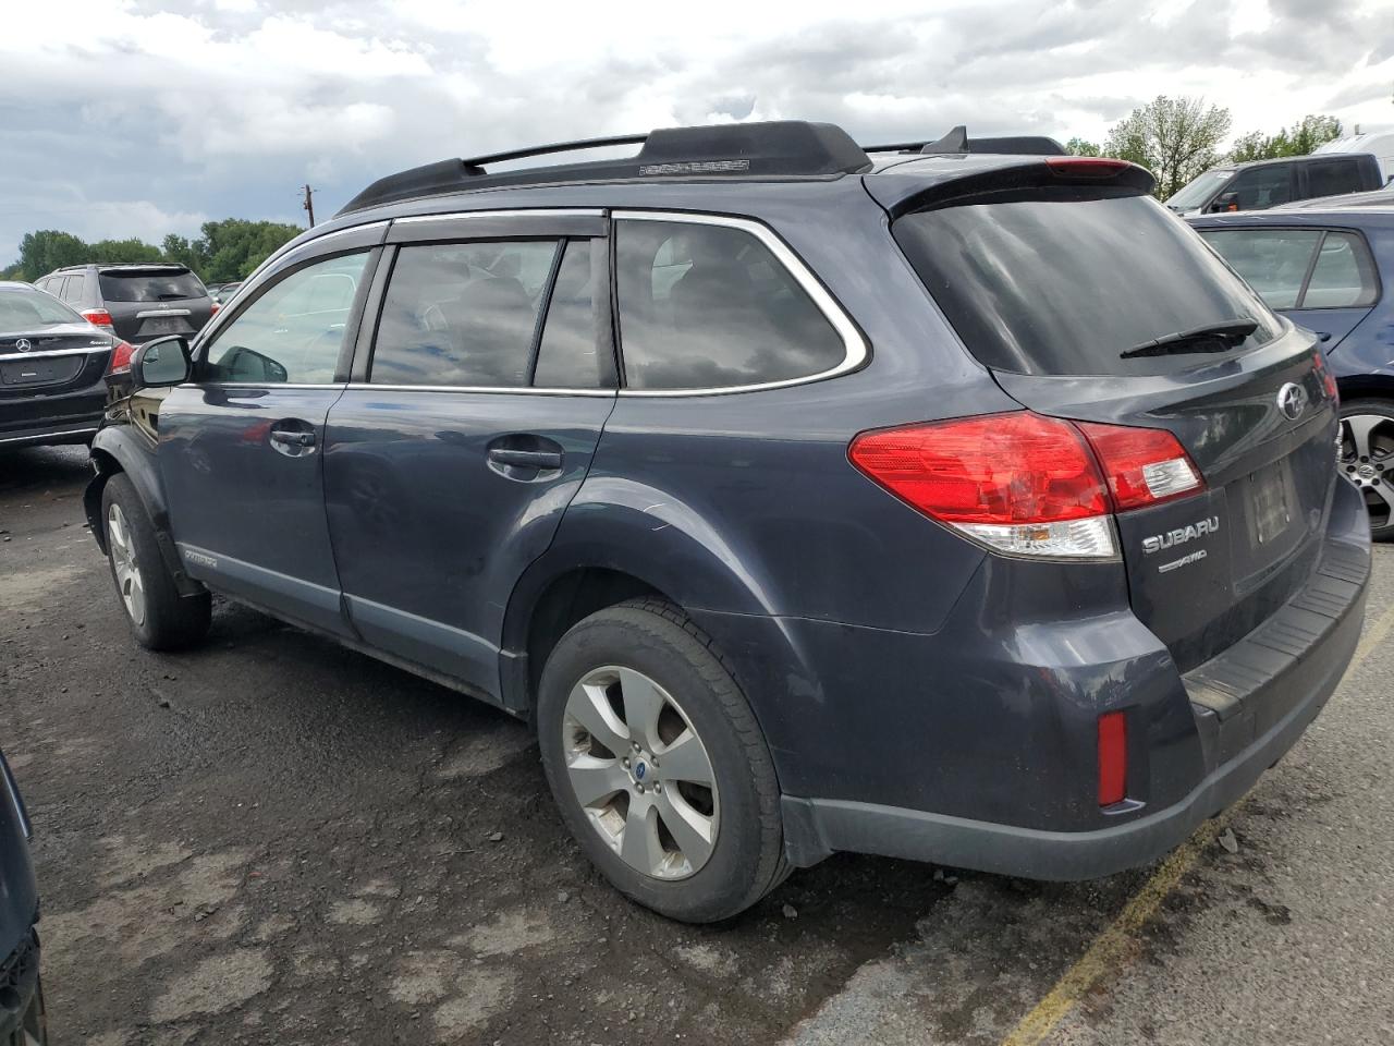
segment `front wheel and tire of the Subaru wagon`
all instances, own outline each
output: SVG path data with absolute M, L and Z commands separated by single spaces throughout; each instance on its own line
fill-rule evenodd
M 102 491 L 107 566 L 117 601 L 137 642 L 149 650 L 183 650 L 208 635 L 212 597 L 180 596 L 164 565 L 145 505 L 124 473 Z

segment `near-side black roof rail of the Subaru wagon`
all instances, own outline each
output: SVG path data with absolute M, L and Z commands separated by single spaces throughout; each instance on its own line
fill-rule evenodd
M 637 156 L 489 172 L 491 163 L 643 145 Z M 871 159 L 834 124 L 772 120 L 715 127 L 664 127 L 648 134 L 585 138 L 470 159 L 439 160 L 379 179 L 350 199 L 340 215 L 414 197 L 499 185 L 613 181 L 652 177 L 836 177 L 866 170 Z

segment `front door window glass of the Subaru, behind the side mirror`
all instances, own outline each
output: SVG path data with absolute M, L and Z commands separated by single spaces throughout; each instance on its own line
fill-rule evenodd
M 318 385 L 335 379 L 367 251 L 296 269 L 262 291 L 208 350 L 208 381 Z

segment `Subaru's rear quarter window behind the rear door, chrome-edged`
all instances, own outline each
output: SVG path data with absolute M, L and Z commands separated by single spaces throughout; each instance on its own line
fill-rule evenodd
M 821 374 L 842 338 L 753 234 L 696 222 L 618 222 L 625 379 L 722 389 Z

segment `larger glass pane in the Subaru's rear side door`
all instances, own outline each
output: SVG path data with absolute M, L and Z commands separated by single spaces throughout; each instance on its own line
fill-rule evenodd
M 533 336 L 558 250 L 555 240 L 399 250 L 382 303 L 369 381 L 527 385 Z

